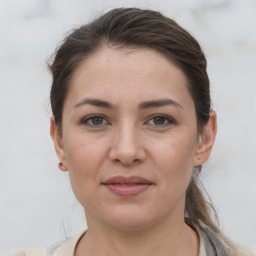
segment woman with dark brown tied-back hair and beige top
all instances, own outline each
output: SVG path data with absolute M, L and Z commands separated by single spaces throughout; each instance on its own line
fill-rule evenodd
M 114 9 L 73 31 L 49 67 L 51 136 L 88 230 L 26 255 L 255 255 L 222 234 L 197 185 L 216 113 L 188 32 Z

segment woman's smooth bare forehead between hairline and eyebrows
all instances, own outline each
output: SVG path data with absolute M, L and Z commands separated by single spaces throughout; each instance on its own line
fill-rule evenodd
M 166 95 L 176 100 L 190 97 L 183 71 L 170 59 L 148 48 L 103 47 L 74 71 L 67 98 L 108 97 L 115 101 L 133 97 L 144 101 Z

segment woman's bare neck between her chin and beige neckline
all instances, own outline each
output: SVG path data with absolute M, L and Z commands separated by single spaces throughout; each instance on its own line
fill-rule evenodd
M 184 220 L 133 231 L 102 228 L 97 222 L 88 222 L 88 231 L 78 243 L 75 256 L 196 256 L 198 253 L 198 236 Z

